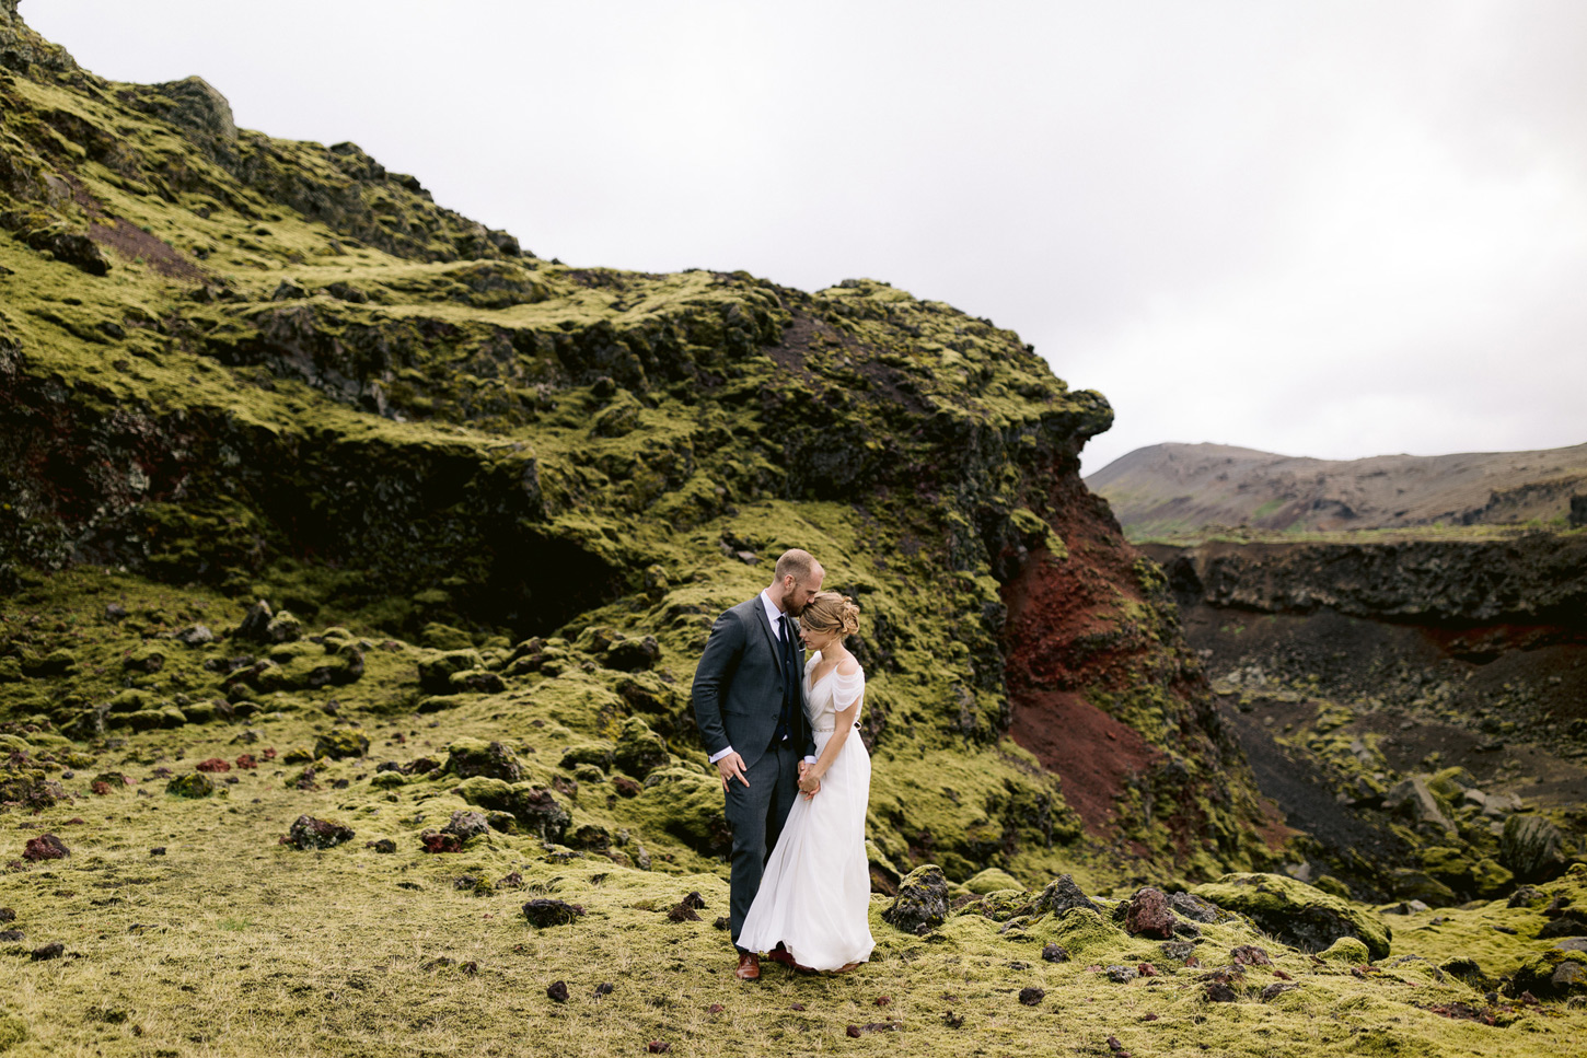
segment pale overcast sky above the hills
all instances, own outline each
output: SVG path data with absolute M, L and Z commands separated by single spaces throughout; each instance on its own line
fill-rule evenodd
M 1587 441 L 1587 3 L 24 0 L 122 81 L 352 140 L 543 257 L 886 279 L 1114 428 Z

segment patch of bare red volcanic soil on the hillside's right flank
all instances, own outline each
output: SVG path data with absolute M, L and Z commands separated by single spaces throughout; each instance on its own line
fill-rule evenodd
M 1139 731 L 1108 715 L 1084 692 L 1116 688 L 1128 661 L 1151 649 L 1119 634 L 1119 596 L 1139 600 L 1139 557 L 1124 542 L 1105 503 L 1078 479 L 1059 479 L 1054 528 L 1070 558 L 1030 554 L 1003 585 L 1003 628 L 1013 719 L 1009 734 L 1057 772 L 1068 801 L 1097 836 L 1112 831 L 1114 801 L 1132 776 L 1163 753 Z

